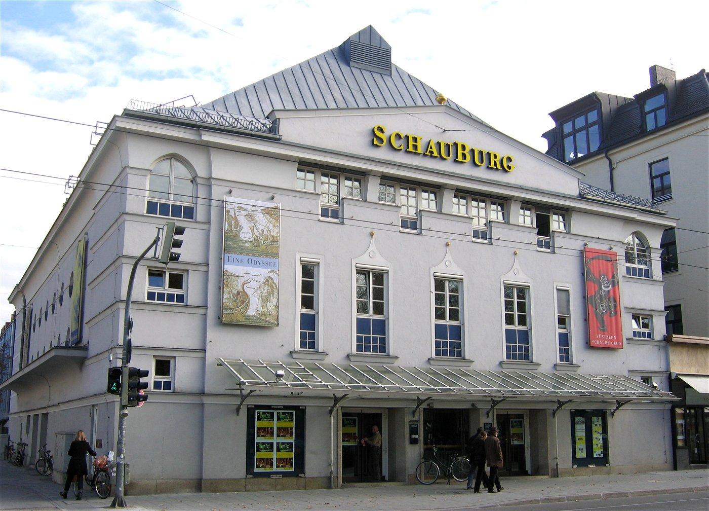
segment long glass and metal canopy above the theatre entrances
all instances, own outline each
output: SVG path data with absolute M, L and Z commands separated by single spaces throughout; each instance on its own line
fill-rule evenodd
M 459 367 L 400 367 L 383 364 L 247 361 L 218 358 L 239 390 L 266 395 L 435 397 L 445 400 L 676 400 L 625 375 L 473 370 Z

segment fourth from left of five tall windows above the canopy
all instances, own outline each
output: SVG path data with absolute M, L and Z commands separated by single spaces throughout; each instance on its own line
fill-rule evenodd
M 505 285 L 505 359 L 530 360 L 529 287 Z

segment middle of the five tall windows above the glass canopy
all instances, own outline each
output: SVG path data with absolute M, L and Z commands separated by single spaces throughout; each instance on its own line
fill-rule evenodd
M 435 356 L 462 358 L 462 281 L 433 279 Z

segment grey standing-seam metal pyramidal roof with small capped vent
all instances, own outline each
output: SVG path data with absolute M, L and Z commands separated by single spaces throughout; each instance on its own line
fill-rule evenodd
M 201 105 L 264 119 L 272 110 L 437 105 L 437 92 L 391 62 L 391 46 L 371 25 L 337 48 Z M 447 105 L 481 121 L 466 109 Z

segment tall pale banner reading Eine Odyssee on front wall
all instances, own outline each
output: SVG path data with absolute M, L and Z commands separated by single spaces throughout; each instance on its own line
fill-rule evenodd
M 223 323 L 278 325 L 280 204 L 224 197 Z

